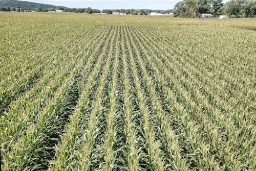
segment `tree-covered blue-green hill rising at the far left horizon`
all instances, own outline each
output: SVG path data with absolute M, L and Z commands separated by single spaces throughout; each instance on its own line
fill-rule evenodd
M 27 1 L 16 1 L 16 0 L 2 0 L 0 1 L 0 7 L 20 7 L 28 10 L 32 10 L 36 7 L 40 7 L 42 9 L 56 8 L 56 6 L 54 5 L 32 3 Z

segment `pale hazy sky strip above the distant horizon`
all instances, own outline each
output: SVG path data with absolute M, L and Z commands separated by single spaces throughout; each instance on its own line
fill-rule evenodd
M 95 9 L 173 9 L 181 0 L 24 0 L 35 3 L 65 6 L 70 8 L 91 7 Z

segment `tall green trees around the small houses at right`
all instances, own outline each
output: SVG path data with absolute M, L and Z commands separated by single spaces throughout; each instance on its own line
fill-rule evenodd
M 231 17 L 256 17 L 255 0 L 183 0 L 174 9 L 176 17 L 198 17 L 202 13 L 211 13 L 214 17 L 229 14 Z

